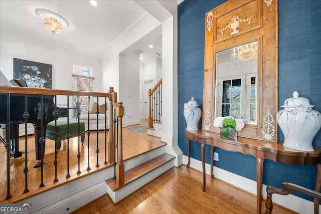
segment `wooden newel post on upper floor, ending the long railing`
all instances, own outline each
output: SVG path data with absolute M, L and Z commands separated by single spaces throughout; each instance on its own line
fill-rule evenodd
M 108 163 L 114 162 L 115 159 L 115 153 L 114 153 L 114 147 L 115 147 L 115 139 L 114 139 L 114 108 L 113 108 L 113 93 L 114 93 L 114 87 L 109 87 L 109 116 L 108 116 L 108 126 L 109 126 L 109 140 L 108 140 Z

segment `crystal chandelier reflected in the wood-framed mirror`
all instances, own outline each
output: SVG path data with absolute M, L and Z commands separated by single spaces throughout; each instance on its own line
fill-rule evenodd
M 231 55 L 238 62 L 257 59 L 257 41 L 234 48 Z

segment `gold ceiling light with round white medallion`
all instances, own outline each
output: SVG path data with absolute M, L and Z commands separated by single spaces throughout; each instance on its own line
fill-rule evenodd
M 35 13 L 43 20 L 44 28 L 53 34 L 61 34 L 64 28 L 69 26 L 67 20 L 55 12 L 46 9 L 36 9 Z

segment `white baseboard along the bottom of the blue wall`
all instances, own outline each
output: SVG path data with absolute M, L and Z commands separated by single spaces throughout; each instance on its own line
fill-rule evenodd
M 190 167 L 196 170 L 202 171 L 202 161 L 196 160 L 194 158 L 190 159 Z M 188 156 L 184 155 L 183 164 L 188 163 Z M 205 172 L 206 174 L 211 173 L 211 165 L 205 163 Z M 234 174 L 232 172 L 220 169 L 218 167 L 213 168 L 214 176 L 220 180 L 223 180 L 227 183 L 230 183 L 234 186 L 237 186 L 247 192 L 253 193 L 256 195 L 256 181 L 242 177 L 240 175 Z M 263 198 L 266 198 L 266 185 L 263 184 L 262 187 Z M 273 203 L 279 204 L 286 208 L 289 208 L 298 213 L 313 213 L 313 202 L 305 200 L 303 198 L 297 197 L 292 194 L 288 195 L 279 195 L 272 194 Z M 321 206 L 319 205 L 319 212 L 321 211 Z

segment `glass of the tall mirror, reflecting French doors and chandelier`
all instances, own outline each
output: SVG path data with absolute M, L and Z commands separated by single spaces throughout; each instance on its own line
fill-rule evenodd
M 252 41 L 216 53 L 215 117 L 257 124 L 257 44 Z

